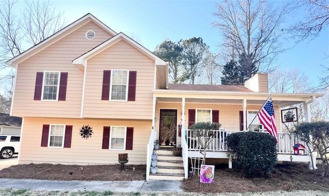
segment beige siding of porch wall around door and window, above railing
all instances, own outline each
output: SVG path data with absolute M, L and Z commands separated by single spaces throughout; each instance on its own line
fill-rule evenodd
M 247 111 L 259 111 L 262 105 L 247 105 Z M 273 106 L 276 115 L 276 126 L 279 132 L 280 130 L 280 110 L 278 106 Z M 181 103 L 158 103 L 156 105 L 156 130 L 159 129 L 159 111 L 160 109 L 173 109 L 177 108 L 177 123 L 181 119 Z M 185 128 L 188 128 L 189 124 L 189 110 L 195 109 L 211 109 L 220 111 L 220 123 L 222 128 L 228 131 L 240 130 L 240 111 L 243 111 L 242 105 L 239 104 L 202 104 L 202 103 L 186 103 L 185 104 Z M 247 122 L 250 123 L 250 122 Z M 178 137 L 177 137 L 178 138 Z

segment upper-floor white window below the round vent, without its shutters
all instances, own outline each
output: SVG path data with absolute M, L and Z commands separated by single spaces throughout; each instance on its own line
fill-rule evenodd
M 58 100 L 60 72 L 44 72 L 42 100 Z

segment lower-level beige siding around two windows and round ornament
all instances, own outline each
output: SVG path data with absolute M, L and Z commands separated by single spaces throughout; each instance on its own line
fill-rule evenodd
M 71 148 L 41 147 L 43 124 L 66 124 L 72 127 Z M 83 125 L 93 128 L 94 134 L 88 139 L 80 136 Z M 102 149 L 103 127 L 133 127 L 133 150 Z M 118 164 L 118 154 L 128 153 L 128 164 L 146 164 L 147 144 L 152 122 L 137 120 L 97 120 L 69 118 L 25 118 L 19 164 Z

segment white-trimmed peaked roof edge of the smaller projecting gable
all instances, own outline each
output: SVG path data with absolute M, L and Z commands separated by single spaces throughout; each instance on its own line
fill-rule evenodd
M 145 48 L 144 46 L 140 45 L 137 43 L 135 40 L 131 39 L 128 37 L 126 34 L 123 32 L 120 32 L 116 34 L 114 37 L 108 39 L 107 41 L 101 43 L 100 45 L 96 46 L 95 48 L 87 51 L 85 54 L 81 55 L 80 57 L 74 59 L 72 61 L 73 64 L 75 65 L 86 65 L 86 61 L 95 55 L 99 54 L 103 50 L 107 49 L 108 47 L 113 46 L 114 44 L 118 43 L 119 41 L 124 40 L 128 43 L 130 43 L 132 46 L 137 48 L 139 51 L 143 52 L 143 54 L 149 56 L 151 59 L 155 60 L 156 65 L 166 65 L 166 61 L 163 61 L 161 58 L 153 54 L 150 50 Z

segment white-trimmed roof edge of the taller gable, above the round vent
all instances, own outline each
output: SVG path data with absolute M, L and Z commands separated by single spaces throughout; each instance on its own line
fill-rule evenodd
M 56 33 L 50 35 L 50 37 L 46 38 L 45 40 L 39 42 L 38 44 L 35 44 L 34 46 L 30 47 L 29 49 L 22 52 L 22 54 L 17 55 L 16 57 L 10 59 L 6 62 L 7 65 L 10 65 L 12 67 L 16 67 L 16 65 L 25 59 L 31 57 L 32 55 L 36 54 L 36 52 L 44 49 L 45 47 L 49 46 L 50 44 L 58 41 L 59 39 L 65 37 L 65 35 L 71 33 L 75 29 L 85 25 L 86 23 L 93 21 L 96 24 L 98 24 L 100 27 L 102 27 L 107 32 L 116 35 L 117 33 L 106 26 L 104 23 L 102 23 L 100 20 L 97 19 L 93 14 L 87 13 L 86 15 L 82 16 L 80 19 L 76 20 L 75 22 L 67 25 L 63 29 L 57 31 Z

